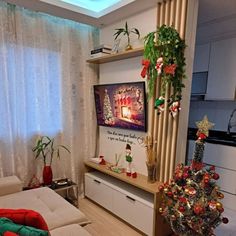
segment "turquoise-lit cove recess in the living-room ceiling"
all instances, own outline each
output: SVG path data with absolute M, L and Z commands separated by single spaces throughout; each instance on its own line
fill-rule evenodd
M 92 17 L 104 16 L 135 0 L 40 0 Z

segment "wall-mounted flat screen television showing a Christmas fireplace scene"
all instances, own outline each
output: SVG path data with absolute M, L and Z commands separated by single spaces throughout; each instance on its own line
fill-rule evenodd
M 97 124 L 147 131 L 145 82 L 94 85 Z

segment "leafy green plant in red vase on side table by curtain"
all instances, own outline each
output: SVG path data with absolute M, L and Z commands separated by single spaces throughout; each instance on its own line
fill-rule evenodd
M 60 158 L 60 149 L 64 149 L 70 153 L 67 147 L 64 145 L 56 145 L 54 139 L 49 138 L 48 136 L 39 137 L 32 149 L 35 153 L 35 159 L 39 157 L 43 159 L 43 183 L 45 185 L 50 185 L 52 183 L 53 174 L 51 164 L 55 155 Z

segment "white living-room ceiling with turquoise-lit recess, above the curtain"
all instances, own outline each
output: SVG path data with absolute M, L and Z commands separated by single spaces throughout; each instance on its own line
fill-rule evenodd
M 128 18 L 139 12 L 155 7 L 161 0 L 120 0 L 114 6 L 108 7 L 100 13 L 89 11 L 69 4 L 69 1 L 60 0 L 4 0 L 6 2 L 23 6 L 35 11 L 45 12 L 62 18 L 78 21 L 81 23 L 103 27 L 122 19 Z M 71 0 L 70 0 L 71 1 Z M 78 0 L 77 0 L 78 1 Z M 101 1 L 101 0 L 87 0 Z M 108 1 L 109 2 L 109 1 Z

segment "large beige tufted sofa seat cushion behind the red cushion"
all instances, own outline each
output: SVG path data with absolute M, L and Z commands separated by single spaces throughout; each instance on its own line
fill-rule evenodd
M 85 215 L 48 187 L 36 188 L 0 197 L 0 208 L 31 209 L 39 212 L 49 230 L 73 223 L 89 223 Z

